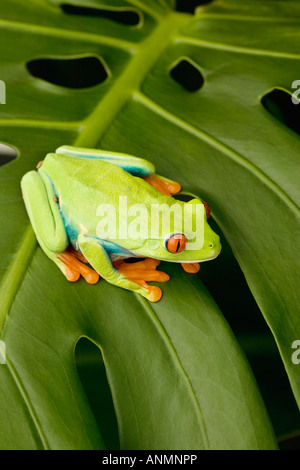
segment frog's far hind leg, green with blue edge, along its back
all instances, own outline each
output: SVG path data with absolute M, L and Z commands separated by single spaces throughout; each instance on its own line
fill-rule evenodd
M 107 150 L 86 149 L 64 145 L 59 147 L 56 153 L 69 155 L 71 157 L 102 160 L 117 165 L 128 173 L 142 178 L 152 175 L 155 172 L 154 165 L 143 158 L 117 152 L 109 152 Z

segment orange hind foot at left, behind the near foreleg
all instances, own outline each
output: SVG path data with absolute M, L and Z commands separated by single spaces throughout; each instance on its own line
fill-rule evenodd
M 99 274 L 84 263 L 88 261 L 78 251 L 72 247 L 67 248 L 62 253 L 56 255 L 66 267 L 66 278 L 70 282 L 75 282 L 80 278 L 80 275 L 89 284 L 96 284 L 99 280 Z

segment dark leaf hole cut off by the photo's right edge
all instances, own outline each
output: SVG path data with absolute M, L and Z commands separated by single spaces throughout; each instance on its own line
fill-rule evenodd
M 272 116 L 300 135 L 300 101 L 296 96 L 274 88 L 263 96 L 261 103 Z

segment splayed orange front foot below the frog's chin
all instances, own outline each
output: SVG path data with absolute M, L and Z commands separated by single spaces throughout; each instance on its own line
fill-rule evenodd
M 157 286 L 149 286 L 146 281 L 167 282 L 170 276 L 162 271 L 156 271 L 160 264 L 159 260 L 146 258 L 136 263 L 120 261 L 114 263 L 115 268 L 123 274 L 128 281 L 138 284 L 147 292 L 147 298 L 151 302 L 157 302 L 162 296 L 162 290 Z

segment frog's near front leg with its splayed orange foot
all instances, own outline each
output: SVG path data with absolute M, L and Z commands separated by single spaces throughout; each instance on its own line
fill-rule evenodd
M 147 281 L 169 280 L 168 274 L 156 271 L 159 261 L 146 259 L 137 263 L 119 262 L 113 266 L 101 243 L 94 238 L 81 234 L 78 237 L 78 245 L 91 266 L 106 281 L 141 294 L 151 302 L 157 302 L 161 298 L 161 289 L 147 284 Z

